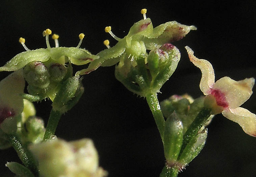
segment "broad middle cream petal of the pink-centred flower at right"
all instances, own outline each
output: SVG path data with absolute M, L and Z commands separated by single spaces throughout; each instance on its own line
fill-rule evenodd
M 212 89 L 219 90 L 224 94 L 228 107 L 233 109 L 241 106 L 250 98 L 254 82 L 254 78 L 234 81 L 229 77 L 223 77 L 216 81 Z

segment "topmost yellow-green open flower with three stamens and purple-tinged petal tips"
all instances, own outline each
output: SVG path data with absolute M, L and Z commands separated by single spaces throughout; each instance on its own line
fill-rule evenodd
M 167 22 L 153 28 L 150 18 L 146 18 L 146 9 L 142 9 L 143 20 L 134 23 L 130 31 L 124 38 L 119 38 L 111 31 L 111 27 L 105 28 L 105 32 L 118 40 L 118 43 L 110 48 L 109 42 L 104 41 L 108 47 L 97 54 L 99 59 L 90 63 L 88 68 L 82 69 L 76 73 L 84 75 L 94 71 L 99 66 L 111 66 L 120 61 L 123 55 L 128 56 L 130 60 L 135 60 L 140 54 L 145 54 L 146 50 L 160 48 L 164 43 L 171 43 L 182 39 L 190 30 L 196 30 L 195 26 L 181 25 L 176 21 Z

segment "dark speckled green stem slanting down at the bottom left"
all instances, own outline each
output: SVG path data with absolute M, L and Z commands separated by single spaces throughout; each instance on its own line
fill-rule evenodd
M 14 147 L 15 151 L 17 152 L 18 156 L 20 157 L 25 167 L 30 169 L 35 176 L 38 176 L 36 161 L 33 155 L 31 154 L 31 152 L 21 144 L 20 140 L 15 135 L 6 135 L 6 136 L 8 136 L 8 139 L 12 147 Z

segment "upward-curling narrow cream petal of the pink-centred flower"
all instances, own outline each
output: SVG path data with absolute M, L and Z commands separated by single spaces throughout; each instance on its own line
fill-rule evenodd
M 209 61 L 195 57 L 194 51 L 188 46 L 186 46 L 185 49 L 187 50 L 190 61 L 201 70 L 202 78 L 200 81 L 200 89 L 204 95 L 208 95 L 215 81 L 213 67 Z

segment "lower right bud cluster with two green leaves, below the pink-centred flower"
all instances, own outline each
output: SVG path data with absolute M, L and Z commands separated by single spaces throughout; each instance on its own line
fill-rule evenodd
M 183 138 L 190 124 L 204 107 L 203 103 L 204 97 L 194 100 L 187 94 L 182 96 L 173 95 L 160 103 L 162 113 L 167 117 L 163 139 L 164 155 L 167 163 L 163 169 L 163 175 L 168 170 L 182 170 L 202 150 L 207 138 L 207 129 L 205 126 L 209 124 L 213 116 L 208 118 L 206 124 L 195 137 L 190 139 L 185 147 L 183 145 Z

